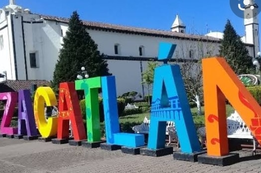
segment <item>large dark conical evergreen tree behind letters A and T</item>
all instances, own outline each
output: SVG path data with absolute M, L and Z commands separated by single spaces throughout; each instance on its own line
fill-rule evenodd
M 74 11 L 55 65 L 52 88 L 57 91 L 59 83 L 75 81 L 82 66 L 90 77 L 112 75 L 103 58 L 104 55 L 98 51 L 97 44 L 86 31 L 77 11 Z

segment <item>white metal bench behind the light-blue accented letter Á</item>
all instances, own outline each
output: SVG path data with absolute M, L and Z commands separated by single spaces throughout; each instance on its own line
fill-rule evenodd
M 135 133 L 148 134 L 149 123 L 150 123 L 150 120 L 145 116 L 142 124 L 135 125 L 134 127 L 132 127 L 132 130 Z M 177 133 L 176 133 L 174 121 L 167 121 L 167 123 L 166 123 L 166 135 L 169 136 L 169 142 L 168 142 L 167 145 L 169 146 L 171 141 L 175 140 L 177 142 L 177 147 L 178 147 L 178 138 L 177 138 Z

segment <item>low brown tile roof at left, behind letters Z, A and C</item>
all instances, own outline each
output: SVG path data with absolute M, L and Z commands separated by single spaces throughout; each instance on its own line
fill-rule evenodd
M 28 89 L 31 90 L 32 84 L 39 86 L 50 86 L 50 82 L 46 80 L 7 80 L 0 82 L 0 93 L 13 92 L 18 90 Z

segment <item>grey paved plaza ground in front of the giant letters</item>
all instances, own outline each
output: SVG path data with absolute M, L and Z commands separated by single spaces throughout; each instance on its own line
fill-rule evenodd
M 259 173 L 261 155 L 240 151 L 241 162 L 219 167 L 69 144 L 0 138 L 0 173 Z

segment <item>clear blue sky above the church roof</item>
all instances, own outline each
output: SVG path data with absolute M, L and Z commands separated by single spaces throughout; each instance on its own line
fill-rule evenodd
M 33 13 L 70 17 L 74 10 L 82 20 L 170 30 L 176 17 L 186 33 L 223 32 L 230 19 L 237 33 L 245 35 L 244 19 L 236 16 L 229 0 L 15 0 Z M 0 0 L 0 7 L 9 0 Z M 259 15 L 260 18 L 260 15 Z M 194 28 L 194 29 L 192 29 Z

